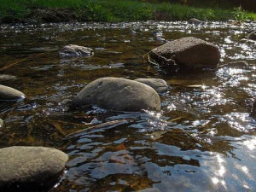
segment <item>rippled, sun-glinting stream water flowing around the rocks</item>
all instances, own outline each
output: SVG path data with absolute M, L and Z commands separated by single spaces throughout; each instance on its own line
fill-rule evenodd
M 69 154 L 65 174 L 50 191 L 256 190 L 256 122 L 249 116 L 256 96 L 256 43 L 246 40 L 255 22 L 0 28 L 0 67 L 26 58 L 2 72 L 17 79 L 1 84 L 27 96 L 0 103 L 0 147 L 49 146 Z M 167 76 L 144 61 L 150 49 L 189 36 L 217 44 L 223 63 L 246 60 L 250 66 Z M 95 55 L 60 59 L 58 51 L 67 44 L 88 46 Z M 165 79 L 162 110 L 67 108 L 65 100 L 107 76 Z M 66 137 L 91 126 L 96 127 Z

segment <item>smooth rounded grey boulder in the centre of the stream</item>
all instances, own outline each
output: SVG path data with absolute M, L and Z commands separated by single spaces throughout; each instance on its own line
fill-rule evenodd
M 118 111 L 160 110 L 160 97 L 147 84 L 122 78 L 101 78 L 87 84 L 72 104 L 77 107 L 96 105 Z

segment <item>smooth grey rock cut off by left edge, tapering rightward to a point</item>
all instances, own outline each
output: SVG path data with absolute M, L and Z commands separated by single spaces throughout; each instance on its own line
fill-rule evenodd
M 0 100 L 19 100 L 25 98 L 25 94 L 20 90 L 0 84 Z

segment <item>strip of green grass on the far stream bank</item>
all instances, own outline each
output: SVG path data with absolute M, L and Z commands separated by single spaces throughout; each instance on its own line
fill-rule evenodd
M 1 0 L 0 22 L 135 21 L 135 20 L 256 20 L 255 13 L 236 9 L 199 9 L 172 3 L 136 0 Z

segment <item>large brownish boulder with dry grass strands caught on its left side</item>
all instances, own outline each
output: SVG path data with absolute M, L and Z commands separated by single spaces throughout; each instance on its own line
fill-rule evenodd
M 200 38 L 180 38 L 152 49 L 148 55 L 160 65 L 172 60 L 181 67 L 217 67 L 220 52 L 216 45 Z

